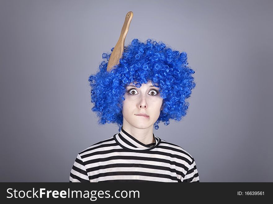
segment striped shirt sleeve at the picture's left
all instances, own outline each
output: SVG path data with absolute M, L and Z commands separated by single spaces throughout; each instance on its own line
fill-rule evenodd
M 90 182 L 85 165 L 81 156 L 78 154 L 74 162 L 74 165 L 71 169 L 69 182 Z

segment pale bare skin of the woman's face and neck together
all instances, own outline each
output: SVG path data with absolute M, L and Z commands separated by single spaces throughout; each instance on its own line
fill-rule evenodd
M 163 98 L 160 97 L 159 87 L 151 81 L 137 88 L 133 83 L 125 87 L 123 101 L 123 129 L 144 144 L 154 142 L 153 125 L 163 110 Z M 137 116 L 145 113 L 149 117 Z

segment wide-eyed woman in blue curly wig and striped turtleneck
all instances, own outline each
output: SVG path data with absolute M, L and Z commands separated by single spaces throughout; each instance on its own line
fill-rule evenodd
M 110 54 L 102 57 L 109 61 Z M 70 182 L 199 182 L 194 158 L 153 134 L 160 121 L 186 116 L 195 87 L 187 54 L 133 39 L 110 72 L 107 61 L 89 77 L 92 111 L 100 125 L 119 125 L 119 133 L 78 153 Z

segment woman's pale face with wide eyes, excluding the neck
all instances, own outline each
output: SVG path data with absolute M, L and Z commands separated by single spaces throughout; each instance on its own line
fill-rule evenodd
M 159 118 L 160 111 L 163 110 L 163 98 L 160 97 L 159 88 L 152 85 L 149 81 L 137 88 L 132 83 L 126 87 L 123 101 L 123 123 L 145 129 L 154 125 Z M 137 114 L 146 114 L 137 116 Z M 126 120 L 126 121 L 124 121 Z

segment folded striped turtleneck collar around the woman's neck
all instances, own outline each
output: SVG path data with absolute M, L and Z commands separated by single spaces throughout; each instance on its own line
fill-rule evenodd
M 151 144 L 144 144 L 138 141 L 136 138 L 134 138 L 132 135 L 130 135 L 128 132 L 126 132 L 123 129 L 123 126 L 121 127 L 121 130 L 118 134 L 114 135 L 115 141 L 123 147 L 123 149 L 127 149 L 132 152 L 145 152 L 149 151 L 159 145 L 161 142 L 161 139 L 154 136 L 154 143 Z

